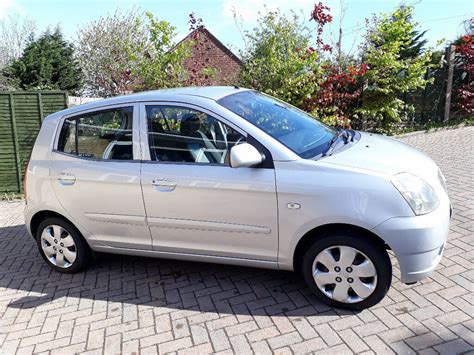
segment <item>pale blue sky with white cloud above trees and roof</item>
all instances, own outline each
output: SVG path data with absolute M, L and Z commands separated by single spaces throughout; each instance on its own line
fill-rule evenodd
M 177 40 L 188 33 L 188 14 L 194 12 L 203 19 L 205 26 L 231 50 L 238 53 L 244 46 L 242 30 L 255 27 L 259 12 L 280 8 L 282 12 L 293 10 L 301 15 L 310 29 L 314 23 L 309 14 L 320 0 L 0 0 L 0 21 L 11 15 L 32 19 L 38 31 L 48 26 L 59 25 L 66 38 L 77 39 L 77 31 L 87 23 L 116 9 L 127 11 L 132 7 L 151 11 L 157 18 L 167 20 L 177 28 Z M 400 0 L 343 0 L 345 11 L 341 11 L 341 0 L 325 0 L 334 16 L 328 35 L 333 39 L 339 30 L 341 14 L 345 52 L 355 53 L 363 32 L 365 18 L 371 14 L 390 12 Z M 452 40 L 462 33 L 462 21 L 474 17 L 472 0 L 411 0 L 404 1 L 415 6 L 415 20 L 421 30 L 427 30 L 425 38 L 430 46 L 438 40 Z M 237 23 L 234 17 L 237 14 Z M 332 36 L 331 36 L 332 33 Z

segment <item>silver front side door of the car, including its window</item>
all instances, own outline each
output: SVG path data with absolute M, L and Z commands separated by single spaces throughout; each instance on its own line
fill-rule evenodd
M 150 160 L 142 162 L 141 181 L 153 249 L 276 261 L 275 172 L 228 163 L 245 135 L 188 106 L 147 105 L 142 116 Z

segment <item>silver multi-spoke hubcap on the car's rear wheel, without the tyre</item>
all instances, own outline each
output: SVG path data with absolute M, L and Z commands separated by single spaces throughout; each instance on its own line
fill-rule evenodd
M 74 239 L 61 226 L 50 225 L 41 233 L 41 249 L 51 264 L 68 268 L 76 260 L 77 250 Z

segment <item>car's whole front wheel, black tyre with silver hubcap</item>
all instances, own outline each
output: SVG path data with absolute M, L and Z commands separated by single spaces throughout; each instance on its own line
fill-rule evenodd
M 316 239 L 303 257 L 301 271 L 322 302 L 356 311 L 379 303 L 392 282 L 392 263 L 385 248 L 349 232 Z

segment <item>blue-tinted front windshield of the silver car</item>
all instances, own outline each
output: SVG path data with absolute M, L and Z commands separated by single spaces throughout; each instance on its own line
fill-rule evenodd
M 324 153 L 337 134 L 335 129 L 296 107 L 256 91 L 225 96 L 218 103 L 304 159 Z

